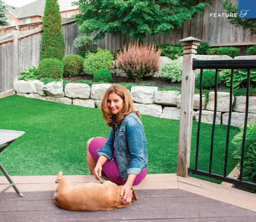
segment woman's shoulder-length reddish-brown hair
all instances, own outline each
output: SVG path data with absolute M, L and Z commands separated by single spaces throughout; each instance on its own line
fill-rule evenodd
M 136 112 L 137 116 L 141 119 L 140 113 L 134 108 L 133 100 L 128 90 L 122 85 L 112 85 L 105 92 L 101 103 L 101 112 L 104 120 L 106 120 L 106 125 L 112 125 L 113 114 L 108 108 L 108 95 L 110 93 L 115 93 L 123 99 L 123 109 L 115 116 L 115 123 L 122 122 L 125 116 L 132 112 Z

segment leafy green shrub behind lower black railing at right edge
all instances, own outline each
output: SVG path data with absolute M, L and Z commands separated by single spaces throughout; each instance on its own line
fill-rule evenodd
M 241 151 L 243 141 L 243 129 L 239 127 L 241 132 L 234 136 L 231 141 L 236 145 L 237 150 L 233 153 L 233 156 L 238 160 L 238 169 L 241 165 Z M 246 140 L 244 146 L 244 159 L 243 159 L 243 180 L 256 183 L 256 123 L 250 123 L 246 128 Z

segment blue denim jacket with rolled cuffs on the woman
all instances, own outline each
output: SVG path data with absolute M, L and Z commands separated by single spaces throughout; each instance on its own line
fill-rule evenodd
M 121 123 L 112 124 L 108 140 L 97 154 L 113 162 L 115 150 L 120 176 L 127 180 L 129 174 L 138 175 L 148 166 L 146 144 L 142 122 L 136 112 L 132 112 Z

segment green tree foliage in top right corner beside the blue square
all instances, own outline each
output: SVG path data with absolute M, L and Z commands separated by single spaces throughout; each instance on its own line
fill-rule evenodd
M 238 5 L 229 3 L 228 0 L 223 0 L 223 7 L 227 13 L 237 13 L 238 14 Z M 229 22 L 232 25 L 243 27 L 247 30 L 256 33 L 256 19 L 255 18 L 238 18 L 238 17 L 228 17 Z

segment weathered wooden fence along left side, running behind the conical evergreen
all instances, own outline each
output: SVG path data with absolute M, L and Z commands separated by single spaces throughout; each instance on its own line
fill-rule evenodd
M 78 27 L 74 22 L 62 23 L 66 55 L 78 52 L 72 45 L 78 36 Z M 23 32 L 12 31 L 0 42 L 0 96 L 12 93 L 13 82 L 18 80 L 20 72 L 28 66 L 38 67 L 40 62 L 42 27 Z

